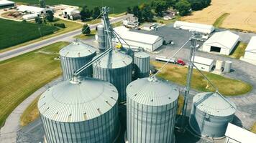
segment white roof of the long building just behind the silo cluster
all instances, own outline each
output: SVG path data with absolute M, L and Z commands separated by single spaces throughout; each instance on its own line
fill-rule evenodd
M 114 28 L 114 31 L 116 31 L 116 33 L 119 34 L 119 36 L 121 36 L 124 40 L 127 39 L 145 44 L 154 44 L 161 38 L 160 36 L 151 34 L 142 34 L 139 32 L 129 31 L 129 29 L 125 28 L 124 26 L 116 27 Z

